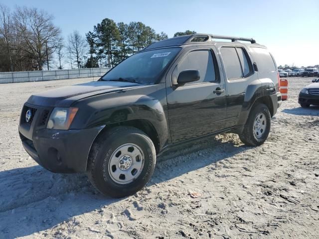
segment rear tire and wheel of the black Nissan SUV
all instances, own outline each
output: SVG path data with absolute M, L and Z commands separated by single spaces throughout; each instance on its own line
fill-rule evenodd
M 263 144 L 270 132 L 271 116 L 265 104 L 257 104 L 249 113 L 240 140 L 250 146 Z

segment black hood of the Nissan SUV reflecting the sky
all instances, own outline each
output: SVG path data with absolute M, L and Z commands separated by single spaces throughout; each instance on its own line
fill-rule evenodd
M 120 81 L 92 81 L 36 93 L 27 103 L 37 106 L 70 107 L 75 101 L 94 95 L 122 91 L 142 85 Z

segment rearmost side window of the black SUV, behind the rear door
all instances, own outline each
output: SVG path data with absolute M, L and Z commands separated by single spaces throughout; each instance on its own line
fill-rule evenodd
M 259 72 L 274 72 L 276 65 L 273 57 L 266 48 L 250 47 L 251 53 L 258 66 Z

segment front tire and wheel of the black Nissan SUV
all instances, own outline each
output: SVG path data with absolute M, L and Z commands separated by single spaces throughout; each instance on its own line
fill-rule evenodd
M 102 133 L 92 145 L 88 177 L 102 194 L 121 198 L 141 190 L 155 164 L 152 140 L 140 129 L 119 126 Z

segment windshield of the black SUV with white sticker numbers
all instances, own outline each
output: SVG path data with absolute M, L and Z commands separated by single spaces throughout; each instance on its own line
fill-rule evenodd
M 154 84 L 160 73 L 181 48 L 165 48 L 137 53 L 105 74 L 102 81 L 129 81 Z

